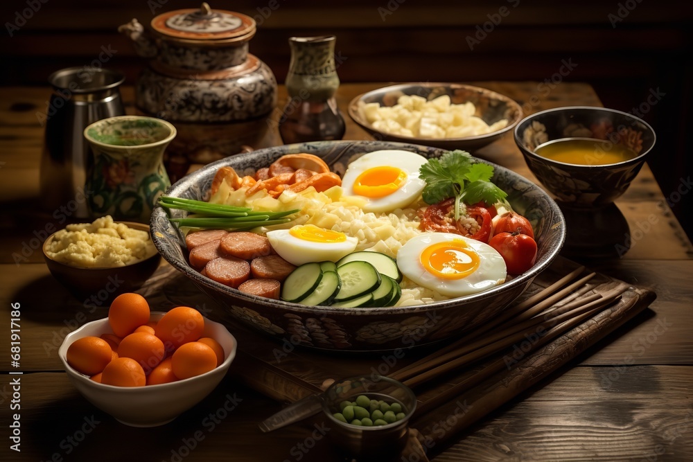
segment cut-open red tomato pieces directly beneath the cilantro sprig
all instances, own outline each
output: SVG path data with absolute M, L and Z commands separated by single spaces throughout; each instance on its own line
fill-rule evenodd
M 491 238 L 491 213 L 484 207 L 467 206 L 467 215 L 479 224 L 479 230 L 469 234 L 462 223 L 455 222 L 454 207 L 454 197 L 428 206 L 421 217 L 421 229 L 436 233 L 455 233 L 484 243 L 489 242 L 489 238 Z

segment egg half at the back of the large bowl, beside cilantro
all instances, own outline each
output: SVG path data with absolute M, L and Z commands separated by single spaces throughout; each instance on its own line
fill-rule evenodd
M 349 163 L 342 178 L 344 195 L 365 199 L 365 212 L 391 212 L 414 202 L 426 182 L 419 168 L 428 159 L 416 152 L 381 150 L 369 152 Z

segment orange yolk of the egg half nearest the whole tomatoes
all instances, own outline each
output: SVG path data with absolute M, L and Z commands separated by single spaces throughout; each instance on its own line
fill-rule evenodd
M 478 269 L 480 260 L 464 240 L 452 240 L 426 247 L 421 252 L 421 264 L 439 278 L 462 279 Z

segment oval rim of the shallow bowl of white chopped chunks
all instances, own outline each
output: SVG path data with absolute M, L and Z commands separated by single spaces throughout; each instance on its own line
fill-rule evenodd
M 396 91 L 398 89 L 402 88 L 412 88 L 412 87 L 422 87 L 422 88 L 433 88 L 433 87 L 448 87 L 448 88 L 464 88 L 468 89 L 471 91 L 477 91 L 480 93 L 485 93 L 489 94 L 489 96 L 492 96 L 493 98 L 497 100 L 501 100 L 513 109 L 515 109 L 515 113 L 517 116 L 514 118 L 512 121 L 508 121 L 508 125 L 505 127 L 501 128 L 500 130 L 495 130 L 495 132 L 490 132 L 482 135 L 473 135 L 473 136 L 462 136 L 461 138 L 421 138 L 421 137 L 416 137 L 416 136 L 405 136 L 405 135 L 398 135 L 398 134 L 390 134 L 387 132 L 383 132 L 382 130 L 378 130 L 374 127 L 371 126 L 367 121 L 362 120 L 362 118 L 358 115 L 358 103 L 366 98 L 369 95 L 380 93 L 383 91 Z M 356 97 L 354 97 L 350 102 L 349 106 L 347 107 L 347 111 L 349 112 L 349 116 L 353 119 L 354 122 L 358 123 L 361 127 L 365 128 L 366 130 L 369 130 L 374 133 L 381 134 L 383 136 L 387 136 L 390 139 L 396 139 L 405 143 L 425 143 L 426 141 L 430 141 L 432 143 L 435 142 L 446 142 L 446 143 L 463 143 L 464 141 L 479 141 L 479 140 L 484 140 L 484 139 L 489 139 L 493 136 L 498 136 L 505 134 L 509 132 L 510 130 L 513 130 L 514 127 L 523 118 L 523 110 L 522 107 L 517 103 L 516 100 L 513 98 L 510 98 L 509 96 L 505 96 L 504 94 L 498 93 L 498 91 L 493 91 L 490 89 L 486 89 L 483 87 L 476 87 L 475 85 L 467 85 L 464 83 L 455 83 L 455 82 L 410 82 L 410 83 L 399 83 L 396 85 L 389 85 L 387 87 L 380 87 L 378 89 L 374 89 L 371 91 L 366 91 L 365 93 L 362 93 Z

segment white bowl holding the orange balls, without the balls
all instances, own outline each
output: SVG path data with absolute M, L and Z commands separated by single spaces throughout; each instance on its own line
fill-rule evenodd
M 163 312 L 152 312 L 150 319 L 158 321 Z M 236 339 L 220 323 L 204 319 L 203 337 L 211 337 L 224 348 L 225 359 L 213 370 L 176 382 L 143 387 L 115 387 L 94 382 L 67 362 L 69 346 L 82 337 L 113 334 L 108 319 L 91 321 L 65 337 L 58 355 L 70 382 L 91 404 L 110 414 L 119 422 L 132 427 L 164 425 L 202 401 L 225 377 L 236 357 Z

